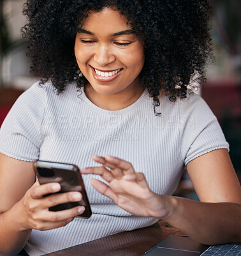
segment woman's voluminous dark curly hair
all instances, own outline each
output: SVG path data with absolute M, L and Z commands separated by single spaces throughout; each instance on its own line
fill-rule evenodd
M 193 80 L 205 81 L 205 64 L 212 58 L 207 0 L 27 0 L 22 34 L 28 39 L 31 72 L 42 77 L 41 83 L 52 81 L 58 93 L 71 81 L 78 88 L 85 85 L 74 53 L 77 28 L 90 11 L 105 7 L 124 15 L 144 43 L 140 78 L 154 110 L 160 91 L 175 101 L 186 97 L 187 85 L 197 87 Z

